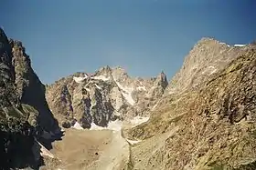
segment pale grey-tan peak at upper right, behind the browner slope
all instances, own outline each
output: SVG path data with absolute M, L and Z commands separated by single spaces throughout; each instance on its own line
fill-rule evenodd
M 202 38 L 186 56 L 184 65 L 172 78 L 165 95 L 194 88 L 208 79 L 208 75 L 222 70 L 247 51 L 251 45 L 226 45 L 213 38 Z

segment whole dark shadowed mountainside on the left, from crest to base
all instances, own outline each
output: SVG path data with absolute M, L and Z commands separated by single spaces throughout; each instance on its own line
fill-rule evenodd
M 44 92 L 38 90 L 41 84 L 24 48 L 16 43 L 9 42 L 0 29 L 0 169 L 37 168 L 41 164 L 37 139 L 43 132 L 58 129 L 50 112 L 36 105 L 46 101 Z

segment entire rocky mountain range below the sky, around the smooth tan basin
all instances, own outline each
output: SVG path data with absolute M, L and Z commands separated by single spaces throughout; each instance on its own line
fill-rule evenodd
M 0 168 L 67 169 L 50 152 L 64 131 L 109 129 L 120 135 L 105 155 L 124 154 L 80 169 L 255 169 L 255 50 L 204 37 L 169 82 L 105 66 L 43 85 L 1 29 Z

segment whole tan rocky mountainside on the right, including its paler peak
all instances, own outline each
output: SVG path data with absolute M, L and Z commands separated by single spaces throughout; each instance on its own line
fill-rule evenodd
M 255 45 L 199 41 L 168 86 L 171 95 L 126 134 L 143 140 L 131 149 L 133 169 L 255 169 L 255 73 Z

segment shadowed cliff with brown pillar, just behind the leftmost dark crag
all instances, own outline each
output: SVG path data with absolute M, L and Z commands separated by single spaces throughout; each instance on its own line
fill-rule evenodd
M 31 67 L 31 61 L 20 41 L 10 40 L 12 65 L 15 68 L 17 96 L 21 103 L 31 105 L 39 112 L 38 124 L 48 132 L 56 131 L 58 123 L 51 114 L 45 97 L 45 86 Z

